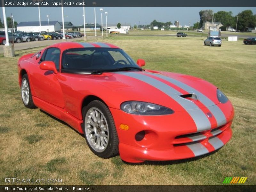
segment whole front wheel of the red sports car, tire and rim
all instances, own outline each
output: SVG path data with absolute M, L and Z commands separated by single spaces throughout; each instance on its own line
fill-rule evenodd
M 113 117 L 108 107 L 99 100 L 83 108 L 84 137 L 91 151 L 102 158 L 118 154 L 118 137 Z

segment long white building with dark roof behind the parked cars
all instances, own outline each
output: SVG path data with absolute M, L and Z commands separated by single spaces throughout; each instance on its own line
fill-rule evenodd
M 41 31 L 46 32 L 55 32 L 60 31 L 60 23 L 59 21 L 41 21 Z M 20 22 L 17 25 L 18 31 L 24 32 L 40 32 L 39 21 L 28 21 L 28 22 Z

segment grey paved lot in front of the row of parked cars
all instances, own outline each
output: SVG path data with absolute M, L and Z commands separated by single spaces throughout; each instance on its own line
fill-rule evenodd
M 67 39 L 68 42 L 75 41 L 75 40 L 83 40 L 83 37 L 79 38 L 73 38 L 73 39 Z M 22 43 L 15 43 L 14 44 L 14 50 L 22 50 L 22 49 L 29 49 L 34 47 L 41 47 L 41 46 L 48 46 L 55 43 L 62 42 L 62 39 L 56 39 L 56 40 L 44 40 L 44 41 L 31 41 L 31 42 L 22 42 Z M 0 45 L 0 53 L 4 52 L 4 45 Z

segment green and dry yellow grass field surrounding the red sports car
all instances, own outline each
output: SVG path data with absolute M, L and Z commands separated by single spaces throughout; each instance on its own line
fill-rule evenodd
M 233 137 L 217 152 L 135 165 L 119 156 L 95 156 L 83 135 L 38 108 L 23 106 L 17 61 L 39 48 L 17 51 L 15 58 L 0 55 L 0 185 L 6 185 L 6 177 L 62 179 L 62 185 L 223 185 L 226 177 L 248 177 L 245 184 L 256 185 L 256 45 L 223 40 L 221 47 L 210 47 L 203 45 L 204 39 L 99 40 L 123 48 L 134 60 L 144 59 L 144 68 L 203 78 L 226 93 L 235 108 Z

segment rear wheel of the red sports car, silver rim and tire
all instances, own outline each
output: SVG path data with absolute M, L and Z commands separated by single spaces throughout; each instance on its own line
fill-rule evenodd
M 28 81 L 27 74 L 22 76 L 20 92 L 21 92 L 21 98 L 22 98 L 22 101 L 23 101 L 23 104 L 25 105 L 25 107 L 35 108 L 35 104 L 32 99 L 30 84 Z

